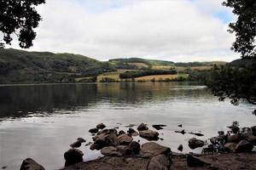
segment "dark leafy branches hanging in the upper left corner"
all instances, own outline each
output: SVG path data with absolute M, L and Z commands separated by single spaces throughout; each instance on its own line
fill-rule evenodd
M 45 0 L 0 0 L 0 31 L 3 33 L 0 48 L 11 45 L 13 34 L 18 37 L 21 48 L 32 47 L 37 35 L 34 29 L 42 20 L 35 7 L 42 3 Z

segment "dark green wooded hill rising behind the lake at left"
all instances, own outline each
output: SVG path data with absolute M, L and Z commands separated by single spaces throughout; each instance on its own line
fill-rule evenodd
M 109 62 L 79 54 L 0 50 L 0 83 L 73 82 L 75 77 L 114 71 Z

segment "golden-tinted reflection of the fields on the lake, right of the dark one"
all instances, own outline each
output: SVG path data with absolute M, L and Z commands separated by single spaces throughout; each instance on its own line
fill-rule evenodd
M 180 88 L 181 85 L 184 88 Z M 99 84 L 98 93 L 115 105 L 140 104 L 148 101 L 172 99 L 212 99 L 206 88 L 195 88 L 184 82 L 145 82 Z

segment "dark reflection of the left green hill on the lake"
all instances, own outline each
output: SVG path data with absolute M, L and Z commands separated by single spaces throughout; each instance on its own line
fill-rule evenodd
M 0 117 L 74 110 L 96 103 L 96 85 L 13 86 L 0 88 Z

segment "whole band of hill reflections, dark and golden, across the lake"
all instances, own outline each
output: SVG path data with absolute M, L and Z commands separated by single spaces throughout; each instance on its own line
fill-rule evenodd
M 213 98 L 206 89 L 180 89 L 178 85 L 175 82 L 146 82 L 1 87 L 0 117 L 74 111 L 78 107 L 93 107 L 98 102 L 125 106 L 154 100 Z

